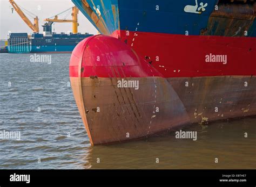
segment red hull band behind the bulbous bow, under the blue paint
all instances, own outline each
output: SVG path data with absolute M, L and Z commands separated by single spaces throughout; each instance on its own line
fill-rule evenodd
M 126 31 L 112 35 L 127 41 L 137 54 L 151 57 L 153 67 L 164 77 L 256 74 L 256 38 L 145 32 L 130 32 L 127 36 Z M 227 55 L 227 64 L 206 63 L 208 54 Z

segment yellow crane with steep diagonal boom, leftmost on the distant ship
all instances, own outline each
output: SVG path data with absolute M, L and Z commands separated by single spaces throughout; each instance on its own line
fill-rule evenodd
M 34 24 L 32 24 L 31 21 L 29 20 L 29 18 L 26 17 L 26 15 L 23 13 L 21 8 L 19 8 L 19 6 L 13 0 L 9 0 L 9 2 L 11 3 L 11 5 L 15 9 L 15 11 L 18 13 L 18 15 L 23 19 L 23 21 L 31 28 L 31 30 L 33 32 L 38 33 L 39 32 L 38 17 L 36 16 L 34 18 Z

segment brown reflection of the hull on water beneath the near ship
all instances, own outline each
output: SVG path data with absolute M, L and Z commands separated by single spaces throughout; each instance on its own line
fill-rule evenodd
M 197 132 L 197 141 L 176 139 L 176 132 L 169 132 L 119 145 L 88 147 L 84 169 L 254 169 L 255 138 L 244 141 L 238 134 L 254 133 L 255 120 L 215 121 L 183 128 Z M 220 145 L 220 141 L 225 143 Z M 211 162 L 213 155 L 219 155 L 221 164 Z

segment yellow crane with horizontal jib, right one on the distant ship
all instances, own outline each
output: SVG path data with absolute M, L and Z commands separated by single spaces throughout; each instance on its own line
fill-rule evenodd
M 72 7 L 72 19 L 58 19 L 58 15 L 56 15 L 56 16 L 54 16 L 53 19 L 47 18 L 47 19 L 44 19 L 44 21 L 51 21 L 51 22 L 57 22 L 57 23 L 72 23 L 73 34 L 77 34 L 78 26 L 79 26 L 78 18 L 77 18 L 78 12 L 79 12 L 78 8 L 76 6 L 73 6 Z M 60 13 L 59 13 L 59 15 L 60 15 Z

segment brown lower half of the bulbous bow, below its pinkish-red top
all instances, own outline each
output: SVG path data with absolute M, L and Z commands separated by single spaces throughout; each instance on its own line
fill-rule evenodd
M 84 124 L 89 129 L 93 145 L 142 138 L 190 124 L 184 105 L 165 78 L 136 78 L 140 82 L 139 92 L 126 88 L 120 90 L 117 81 L 111 78 L 99 78 L 97 86 L 90 77 L 82 78 L 81 86 L 78 79 L 71 77 L 71 84 L 73 89 L 82 89 L 86 112 L 79 102 L 82 93 L 74 91 L 74 95 L 82 118 L 87 119 Z M 159 93 L 157 98 L 153 94 L 155 85 Z M 97 107 L 99 112 L 94 110 Z M 159 107 L 159 112 L 156 112 L 156 107 Z

